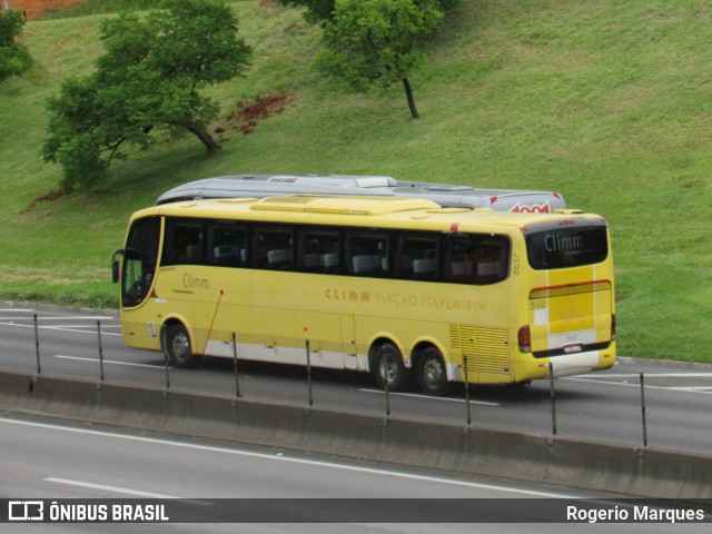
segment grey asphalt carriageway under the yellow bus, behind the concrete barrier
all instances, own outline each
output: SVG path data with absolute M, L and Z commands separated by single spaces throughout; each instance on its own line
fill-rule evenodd
M 166 387 L 161 354 L 123 346 L 115 313 L 73 313 L 0 303 L 0 369 L 37 372 L 38 315 L 42 374 L 100 379 L 99 334 L 105 380 Z M 645 427 L 641 409 L 640 374 L 644 374 Z M 170 389 L 210 393 L 230 398 L 236 393 L 229 359 L 206 358 L 196 369 L 169 369 Z M 315 369 L 314 409 L 385 415 L 383 392 L 372 377 L 358 373 Z M 712 367 L 650 363 L 621 358 L 607 372 L 561 378 L 555 384 L 555 409 L 548 382 L 523 388 L 471 389 L 471 422 L 543 436 L 585 438 L 632 447 L 656 447 L 709 454 L 712 449 Z M 239 392 L 245 398 L 308 404 L 306 370 L 300 367 L 239 362 Z M 464 390 L 445 398 L 390 394 L 390 417 L 466 424 Z M 645 442 L 645 443 L 644 443 Z

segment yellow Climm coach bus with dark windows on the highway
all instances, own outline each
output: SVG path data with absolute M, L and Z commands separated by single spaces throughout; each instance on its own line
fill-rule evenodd
M 113 257 L 122 335 L 172 365 L 202 355 L 419 383 L 517 384 L 615 362 L 610 233 L 572 210 L 295 195 L 166 204 Z M 465 358 L 466 356 L 466 358 Z

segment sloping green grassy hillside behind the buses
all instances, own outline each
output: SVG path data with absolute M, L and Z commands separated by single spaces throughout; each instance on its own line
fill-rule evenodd
M 83 194 L 32 201 L 60 171 L 38 151 L 44 100 L 101 53 L 105 16 L 30 22 L 39 67 L 0 83 L 0 298 L 110 305 L 111 253 L 129 214 L 162 190 L 238 172 L 379 174 L 562 191 L 611 222 L 620 352 L 712 362 L 712 8 L 695 0 L 464 0 L 400 88 L 354 95 L 310 68 L 298 11 L 235 2 L 255 47 L 244 79 L 217 88 L 226 128 L 208 156 L 159 137 Z M 290 97 L 243 135 L 239 101 Z

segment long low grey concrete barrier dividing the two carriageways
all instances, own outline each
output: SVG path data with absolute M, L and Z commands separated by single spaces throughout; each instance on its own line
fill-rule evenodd
M 467 428 L 0 373 L 0 408 L 571 488 L 712 498 L 712 458 L 671 451 Z

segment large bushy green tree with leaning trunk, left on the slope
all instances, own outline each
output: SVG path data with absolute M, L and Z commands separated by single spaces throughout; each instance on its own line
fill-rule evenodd
M 243 75 L 251 55 L 222 0 L 166 0 L 145 19 L 122 13 L 100 39 L 96 72 L 66 80 L 48 102 L 42 157 L 62 166 L 65 190 L 102 179 L 121 147 L 148 147 L 156 128 L 182 128 L 219 148 L 207 130 L 218 106 L 200 89 Z

